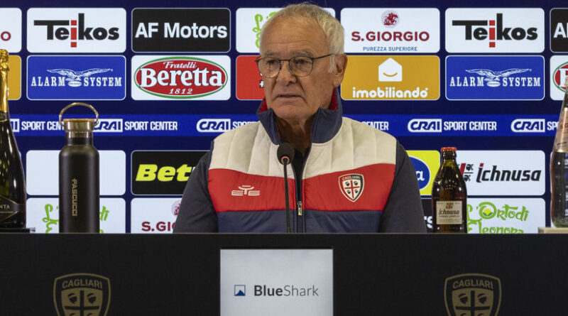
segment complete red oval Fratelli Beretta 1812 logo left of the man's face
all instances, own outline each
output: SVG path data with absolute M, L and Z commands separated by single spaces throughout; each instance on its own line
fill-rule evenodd
M 134 82 L 143 92 L 157 97 L 192 99 L 219 92 L 226 85 L 227 73 L 210 60 L 160 58 L 138 67 Z

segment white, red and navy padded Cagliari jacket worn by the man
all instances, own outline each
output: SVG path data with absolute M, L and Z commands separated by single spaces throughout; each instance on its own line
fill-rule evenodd
M 275 114 L 263 102 L 257 115 L 214 139 L 190 175 L 174 232 L 286 231 Z M 393 136 L 342 117 L 336 93 L 330 109 L 317 110 L 311 140 L 302 178 L 288 165 L 293 231 L 426 231 L 415 170 Z

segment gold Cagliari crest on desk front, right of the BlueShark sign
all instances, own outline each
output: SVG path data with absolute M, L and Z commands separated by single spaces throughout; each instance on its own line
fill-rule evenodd
M 501 307 L 501 280 L 479 273 L 446 279 L 444 300 L 449 316 L 497 316 Z

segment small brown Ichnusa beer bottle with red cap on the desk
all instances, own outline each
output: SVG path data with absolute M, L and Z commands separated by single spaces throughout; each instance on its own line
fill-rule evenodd
M 467 233 L 467 190 L 456 163 L 456 148 L 442 147 L 442 165 L 432 183 L 432 231 Z

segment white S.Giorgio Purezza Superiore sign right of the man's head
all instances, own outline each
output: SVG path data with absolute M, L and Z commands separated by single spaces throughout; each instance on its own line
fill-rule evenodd
M 346 8 L 341 12 L 346 53 L 437 53 L 436 8 Z

